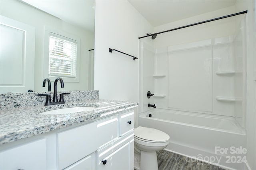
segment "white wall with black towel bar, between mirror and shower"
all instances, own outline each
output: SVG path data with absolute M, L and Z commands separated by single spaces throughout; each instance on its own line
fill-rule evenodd
M 138 37 L 152 26 L 126 0 L 96 0 L 94 89 L 100 98 L 139 102 Z

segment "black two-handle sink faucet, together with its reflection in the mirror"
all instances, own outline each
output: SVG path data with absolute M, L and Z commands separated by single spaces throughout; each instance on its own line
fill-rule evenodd
M 52 99 L 52 102 L 51 102 L 51 95 L 50 94 L 38 94 L 37 96 L 46 96 L 46 102 L 45 102 L 45 106 L 49 106 L 49 105 L 54 105 L 54 104 L 64 104 L 64 94 L 70 94 L 70 93 L 62 93 L 60 94 L 60 101 L 58 101 L 58 98 L 57 98 L 57 82 L 58 80 L 60 80 L 60 86 L 61 88 L 64 88 L 64 82 L 62 80 L 62 78 L 58 77 L 56 78 L 56 80 L 54 81 L 54 94 L 53 94 L 53 99 Z M 50 92 L 51 91 L 51 82 L 48 78 L 44 79 L 44 82 L 43 82 L 43 87 L 45 87 L 45 83 L 46 81 L 48 81 L 48 91 Z

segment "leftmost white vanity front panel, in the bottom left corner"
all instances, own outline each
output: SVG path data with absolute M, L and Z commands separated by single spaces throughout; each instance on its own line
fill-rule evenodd
M 41 139 L 1 151 L 1 170 L 45 170 L 46 140 Z

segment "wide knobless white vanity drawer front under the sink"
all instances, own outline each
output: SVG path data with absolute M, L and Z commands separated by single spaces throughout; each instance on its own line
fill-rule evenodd
M 117 137 L 117 115 L 58 133 L 58 169 L 70 166 Z

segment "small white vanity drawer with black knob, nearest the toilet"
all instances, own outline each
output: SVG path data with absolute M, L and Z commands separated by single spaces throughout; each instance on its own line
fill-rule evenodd
M 134 112 L 129 110 L 119 114 L 119 135 L 123 136 L 124 134 L 130 132 L 134 128 Z

